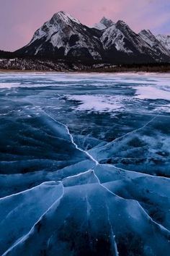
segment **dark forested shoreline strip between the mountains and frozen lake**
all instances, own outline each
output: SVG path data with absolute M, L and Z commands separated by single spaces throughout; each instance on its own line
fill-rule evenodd
M 0 72 L 65 72 L 65 73 L 170 73 L 170 63 L 110 64 L 80 63 L 41 59 L 0 59 Z

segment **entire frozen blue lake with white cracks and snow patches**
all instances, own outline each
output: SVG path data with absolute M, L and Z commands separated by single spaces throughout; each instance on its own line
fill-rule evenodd
M 170 251 L 170 74 L 0 73 L 0 255 Z

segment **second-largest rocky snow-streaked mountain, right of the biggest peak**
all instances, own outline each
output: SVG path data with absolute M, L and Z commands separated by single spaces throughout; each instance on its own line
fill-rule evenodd
M 101 40 L 109 59 L 119 61 L 122 58 L 128 63 L 159 61 L 151 46 L 122 20 L 107 28 Z

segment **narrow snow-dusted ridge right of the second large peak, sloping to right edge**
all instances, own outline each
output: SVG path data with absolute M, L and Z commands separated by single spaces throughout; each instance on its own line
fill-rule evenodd
M 156 54 L 158 54 L 158 56 L 161 57 L 161 55 L 163 55 L 162 58 L 169 56 L 169 50 L 164 46 L 164 44 L 161 43 L 160 40 L 156 38 L 155 35 L 153 35 L 153 33 L 151 33 L 150 30 L 142 30 L 140 31 L 139 35 L 141 38 L 143 38 L 143 40 L 146 41 L 146 43 L 148 43 L 149 46 L 151 46 L 151 48 L 156 52 Z

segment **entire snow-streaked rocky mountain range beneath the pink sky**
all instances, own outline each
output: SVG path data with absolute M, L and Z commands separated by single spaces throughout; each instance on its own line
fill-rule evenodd
M 137 34 L 122 20 L 115 23 L 105 17 L 94 27 L 87 27 L 70 14 L 58 12 L 35 32 L 27 46 L 15 53 L 115 64 L 164 62 L 170 61 L 169 38 L 156 38 L 149 30 Z

